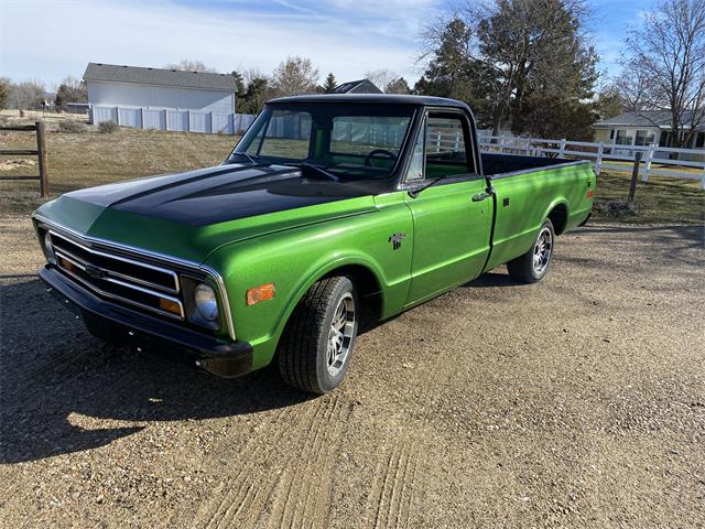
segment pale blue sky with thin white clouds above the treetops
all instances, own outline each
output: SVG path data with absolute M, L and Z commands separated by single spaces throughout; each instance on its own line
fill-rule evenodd
M 652 0 L 592 0 L 600 69 L 615 73 L 628 24 Z M 389 68 L 419 78 L 419 33 L 447 0 L 0 0 L 0 75 L 53 88 L 88 62 L 159 67 L 194 58 L 271 72 L 308 56 L 322 79 Z

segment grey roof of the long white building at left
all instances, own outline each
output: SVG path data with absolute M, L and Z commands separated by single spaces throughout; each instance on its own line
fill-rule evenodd
M 102 63 L 88 63 L 84 79 L 235 91 L 235 79 L 230 74 L 144 68 Z

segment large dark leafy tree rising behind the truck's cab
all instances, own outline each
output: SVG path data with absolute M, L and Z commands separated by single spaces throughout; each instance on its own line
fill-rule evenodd
M 534 133 L 541 123 L 556 123 L 556 114 L 589 116 L 593 108 L 583 101 L 593 97 L 597 54 L 582 31 L 582 2 L 468 2 L 464 14 L 454 11 L 426 32 L 431 60 L 414 91 L 470 104 L 494 133 L 509 125 Z M 547 101 L 563 108 L 542 108 Z

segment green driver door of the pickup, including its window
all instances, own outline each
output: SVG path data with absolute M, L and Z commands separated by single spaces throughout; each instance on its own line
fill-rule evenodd
M 416 139 L 405 183 L 414 225 L 412 279 L 405 306 L 463 284 L 489 252 L 492 198 L 478 174 L 470 125 L 463 112 L 430 111 Z

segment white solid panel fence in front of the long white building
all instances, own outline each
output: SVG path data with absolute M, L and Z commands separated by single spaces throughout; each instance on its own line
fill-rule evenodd
M 153 109 L 143 107 L 90 107 L 93 123 L 115 121 L 134 129 L 239 134 L 254 120 L 249 114 L 219 114 L 199 110 Z

